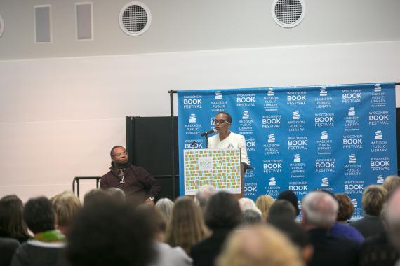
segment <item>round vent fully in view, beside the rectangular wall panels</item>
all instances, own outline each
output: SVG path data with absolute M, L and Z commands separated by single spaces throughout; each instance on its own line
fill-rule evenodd
M 152 22 L 149 8 L 143 3 L 127 3 L 119 13 L 119 27 L 130 36 L 144 34 Z

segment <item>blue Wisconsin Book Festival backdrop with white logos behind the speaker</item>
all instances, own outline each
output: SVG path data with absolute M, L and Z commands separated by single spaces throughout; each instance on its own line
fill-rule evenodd
M 363 216 L 366 186 L 397 173 L 394 83 L 178 91 L 180 195 L 183 150 L 206 148 L 201 133 L 219 111 L 246 137 L 253 170 L 245 196 L 293 190 L 346 193 Z

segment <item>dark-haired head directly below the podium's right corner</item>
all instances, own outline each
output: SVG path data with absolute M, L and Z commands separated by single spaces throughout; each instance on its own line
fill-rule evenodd
M 220 191 L 208 202 L 205 214 L 206 225 L 211 230 L 233 229 L 241 223 L 241 209 L 234 195 Z

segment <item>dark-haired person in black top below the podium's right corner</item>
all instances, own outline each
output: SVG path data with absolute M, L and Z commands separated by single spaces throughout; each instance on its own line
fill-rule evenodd
M 227 235 L 241 223 L 241 209 L 234 195 L 220 191 L 207 204 L 206 225 L 213 231 L 210 237 L 194 244 L 190 250 L 194 266 L 213 266 Z

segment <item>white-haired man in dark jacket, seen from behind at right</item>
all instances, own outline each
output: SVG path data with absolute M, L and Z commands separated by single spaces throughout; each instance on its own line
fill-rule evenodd
M 359 243 L 328 234 L 337 214 L 338 202 L 328 193 L 313 191 L 303 199 L 302 225 L 314 246 L 309 266 L 357 265 Z

